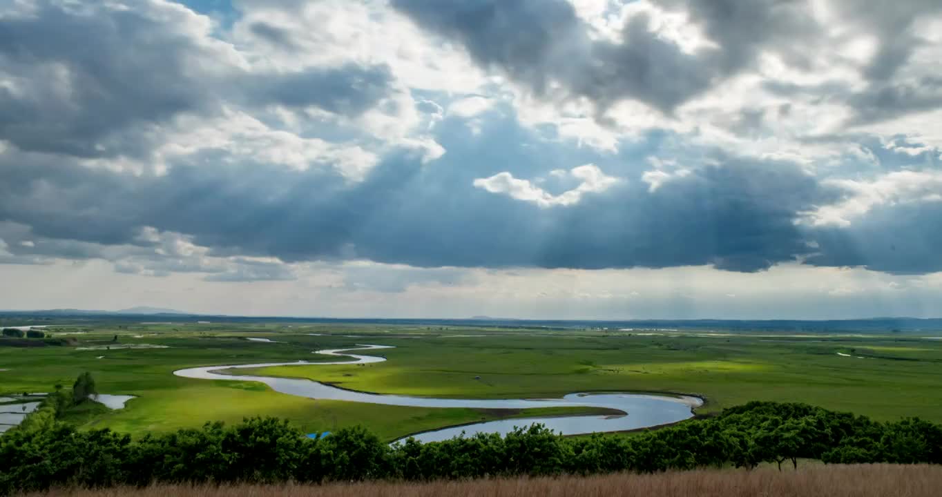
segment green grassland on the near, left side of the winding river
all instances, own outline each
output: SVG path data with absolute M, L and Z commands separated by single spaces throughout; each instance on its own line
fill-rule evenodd
M 70 346 L 17 348 L 0 346 L 0 396 L 3 393 L 48 392 L 55 385 L 71 386 L 79 373 L 89 371 L 98 391 L 136 395 L 125 409 L 109 410 L 84 404 L 66 421 L 85 427 L 110 427 L 129 433 L 165 432 L 203 425 L 208 421 L 235 423 L 248 416 L 278 416 L 308 432 L 330 431 L 348 425 L 367 425 L 386 440 L 447 425 L 540 415 L 606 412 L 604 409 L 425 409 L 314 400 L 276 393 L 248 381 L 206 381 L 175 377 L 177 369 L 271 361 L 337 361 L 313 355 L 313 350 L 355 346 L 356 338 L 289 334 L 291 329 L 258 327 L 221 331 L 218 326 L 165 326 L 112 329 L 62 334 Z M 341 331 L 342 332 L 342 331 Z M 114 342 L 114 336 L 118 341 Z M 269 338 L 261 344 L 245 337 Z M 167 348 L 120 348 L 162 345 Z M 94 347 L 92 350 L 83 348 Z M 104 347 L 104 348 L 103 348 Z

